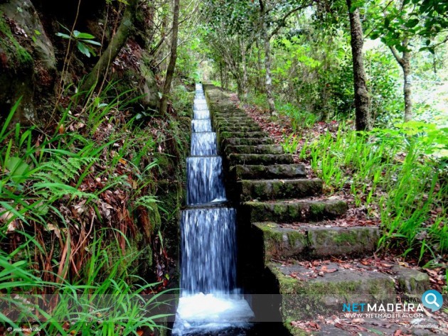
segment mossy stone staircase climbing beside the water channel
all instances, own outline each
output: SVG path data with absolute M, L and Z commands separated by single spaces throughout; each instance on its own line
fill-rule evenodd
M 304 166 L 295 164 L 228 94 L 204 87 L 224 158 L 227 195 L 238 208 L 240 281 L 259 294 L 253 301 L 259 316 L 277 316 L 291 335 L 309 335 L 291 322 L 318 320 L 319 315 L 334 318 L 343 314 L 343 303 L 421 297 L 429 288 L 425 273 L 384 266 L 376 258 L 375 264 L 360 262 L 373 256 L 378 227 L 332 222 L 345 214 L 346 202 L 322 197 L 321 180 L 306 178 Z M 271 303 L 265 302 L 266 296 Z M 372 325 L 364 320 L 356 334 L 349 327 L 321 323 L 313 335 L 393 335 L 400 328 L 405 335 L 412 329 L 378 321 Z M 415 335 L 434 335 L 415 330 L 427 332 Z

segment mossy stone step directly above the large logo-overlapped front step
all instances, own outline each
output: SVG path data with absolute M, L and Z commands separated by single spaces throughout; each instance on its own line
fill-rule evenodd
M 271 259 L 309 260 L 329 256 L 368 256 L 377 249 L 378 227 L 311 227 L 274 222 L 252 223 L 254 237 L 264 246 L 265 263 Z

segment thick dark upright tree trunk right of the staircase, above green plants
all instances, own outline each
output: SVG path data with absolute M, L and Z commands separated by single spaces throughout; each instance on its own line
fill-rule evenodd
M 356 131 L 370 129 L 370 111 L 366 70 L 363 63 L 363 27 L 359 18 L 359 10 L 351 12 L 351 0 L 346 0 L 350 18 L 351 55 L 353 58 L 353 82 L 355 89 Z

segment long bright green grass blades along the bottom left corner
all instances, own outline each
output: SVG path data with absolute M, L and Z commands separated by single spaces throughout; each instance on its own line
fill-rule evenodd
M 43 281 L 28 261 L 15 261 L 28 243 L 11 254 L 0 250 L 0 289 L 9 294 L 2 298 L 2 322 L 22 330 L 33 327 L 36 331 L 31 335 L 38 330 L 48 335 L 137 335 L 142 327 L 160 328 L 157 319 L 168 316 L 164 313 L 168 302 L 161 300 L 164 292 L 144 294 L 157 283 L 127 273 L 126 266 L 139 255 L 123 254 L 117 241 L 105 244 L 108 231 L 93 233 L 90 260 L 79 270 L 83 283 Z M 131 276 L 142 284 L 129 286 Z M 42 296 L 30 289 L 37 293 L 50 290 L 51 294 Z M 27 293 L 11 295 L 18 290 Z

